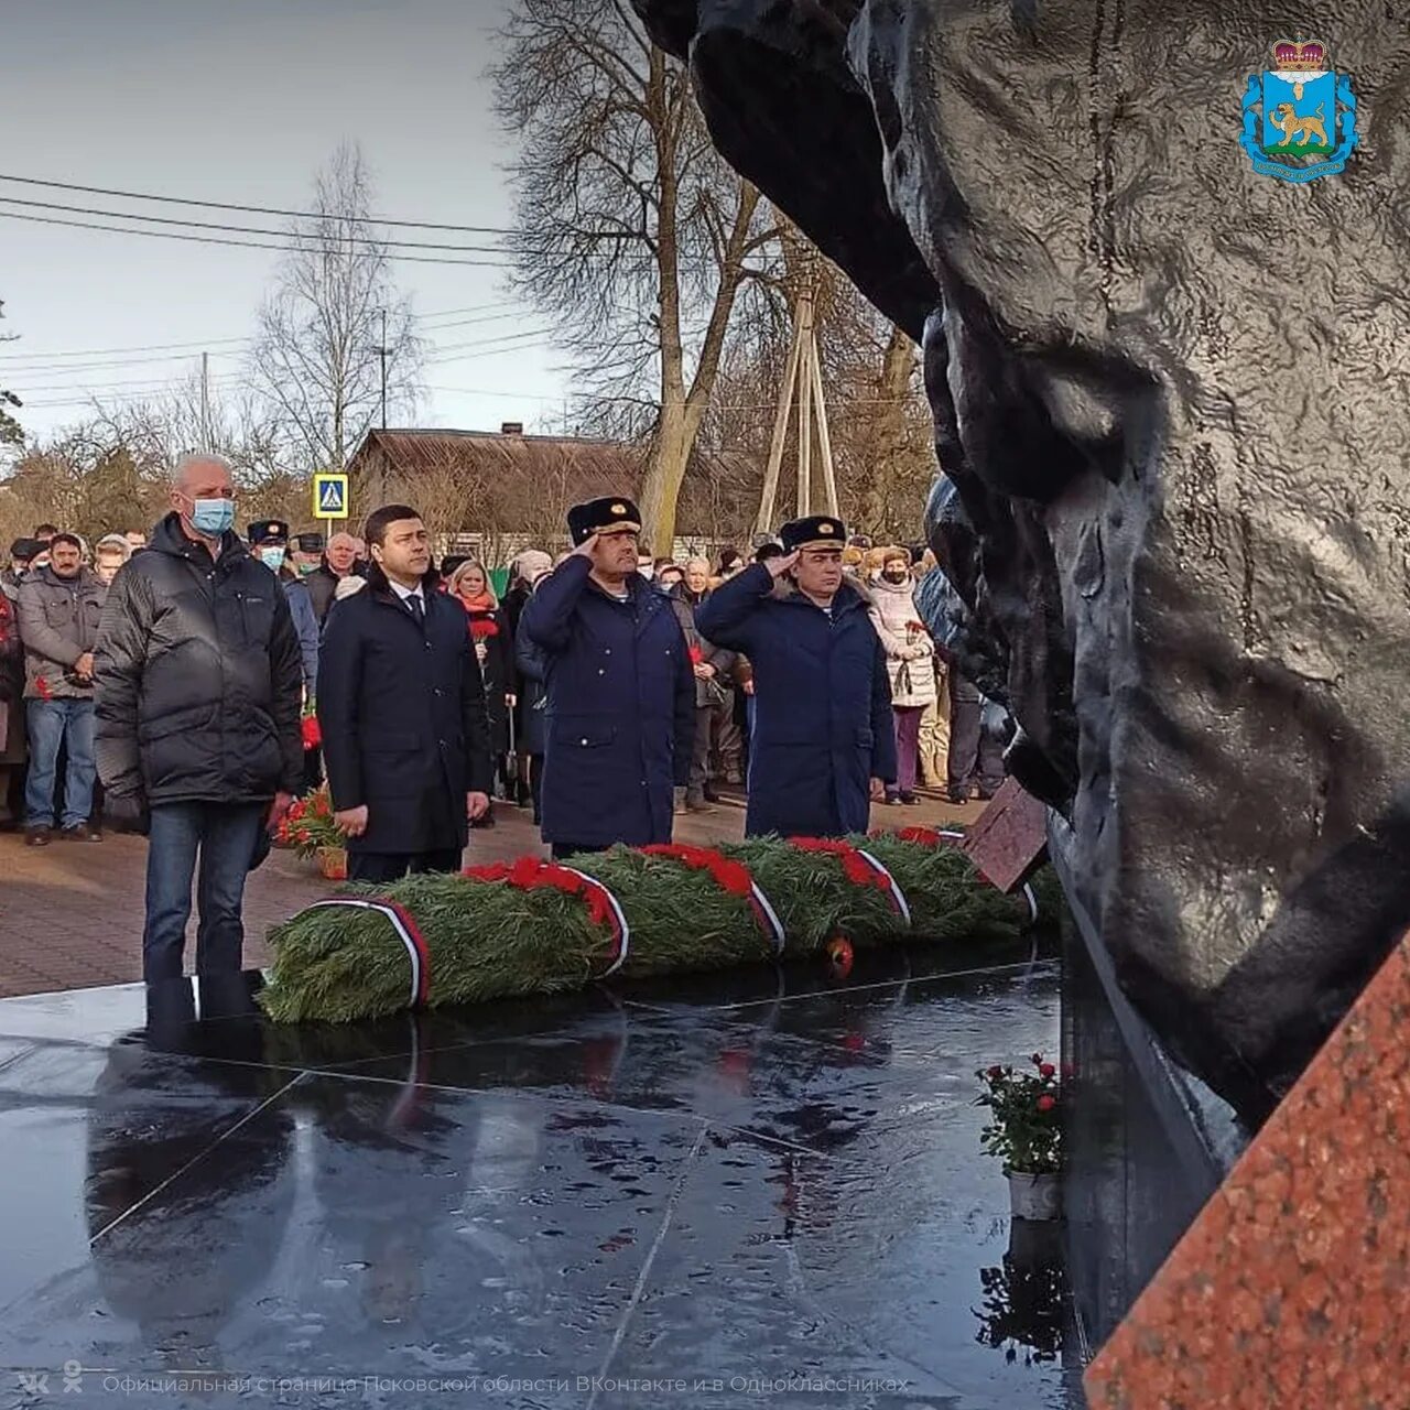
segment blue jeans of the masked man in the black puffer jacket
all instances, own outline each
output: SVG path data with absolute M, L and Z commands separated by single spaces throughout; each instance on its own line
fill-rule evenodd
M 180 977 L 197 852 L 196 973 L 241 969 L 245 877 L 266 812 L 268 805 L 258 802 L 164 802 L 152 808 L 142 931 L 142 979 L 148 984 Z

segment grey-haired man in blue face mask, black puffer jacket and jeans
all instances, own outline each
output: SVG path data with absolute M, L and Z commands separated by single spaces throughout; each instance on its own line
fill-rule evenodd
M 233 532 L 230 462 L 185 455 L 171 506 L 109 591 L 93 650 L 109 815 L 151 832 L 149 983 L 182 973 L 197 866 L 196 970 L 241 969 L 245 876 L 303 777 L 299 636 Z

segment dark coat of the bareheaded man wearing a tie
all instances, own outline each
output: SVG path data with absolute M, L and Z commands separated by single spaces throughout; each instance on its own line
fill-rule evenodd
M 386 578 L 336 602 L 319 653 L 333 807 L 368 809 L 350 852 L 464 847 L 465 794 L 489 792 L 489 721 L 465 611 L 427 580 L 417 626 Z

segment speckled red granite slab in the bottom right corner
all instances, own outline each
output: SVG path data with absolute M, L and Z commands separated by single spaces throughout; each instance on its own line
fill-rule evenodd
M 1410 938 L 1086 1385 L 1093 1410 L 1410 1410 Z

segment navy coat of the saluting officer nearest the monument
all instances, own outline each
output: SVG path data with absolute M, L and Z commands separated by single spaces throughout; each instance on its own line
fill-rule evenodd
M 866 832 L 870 785 L 895 780 L 885 650 L 867 602 L 843 584 L 832 616 L 801 592 L 773 595 L 763 564 L 718 587 L 698 613 L 754 671 L 750 836 Z

